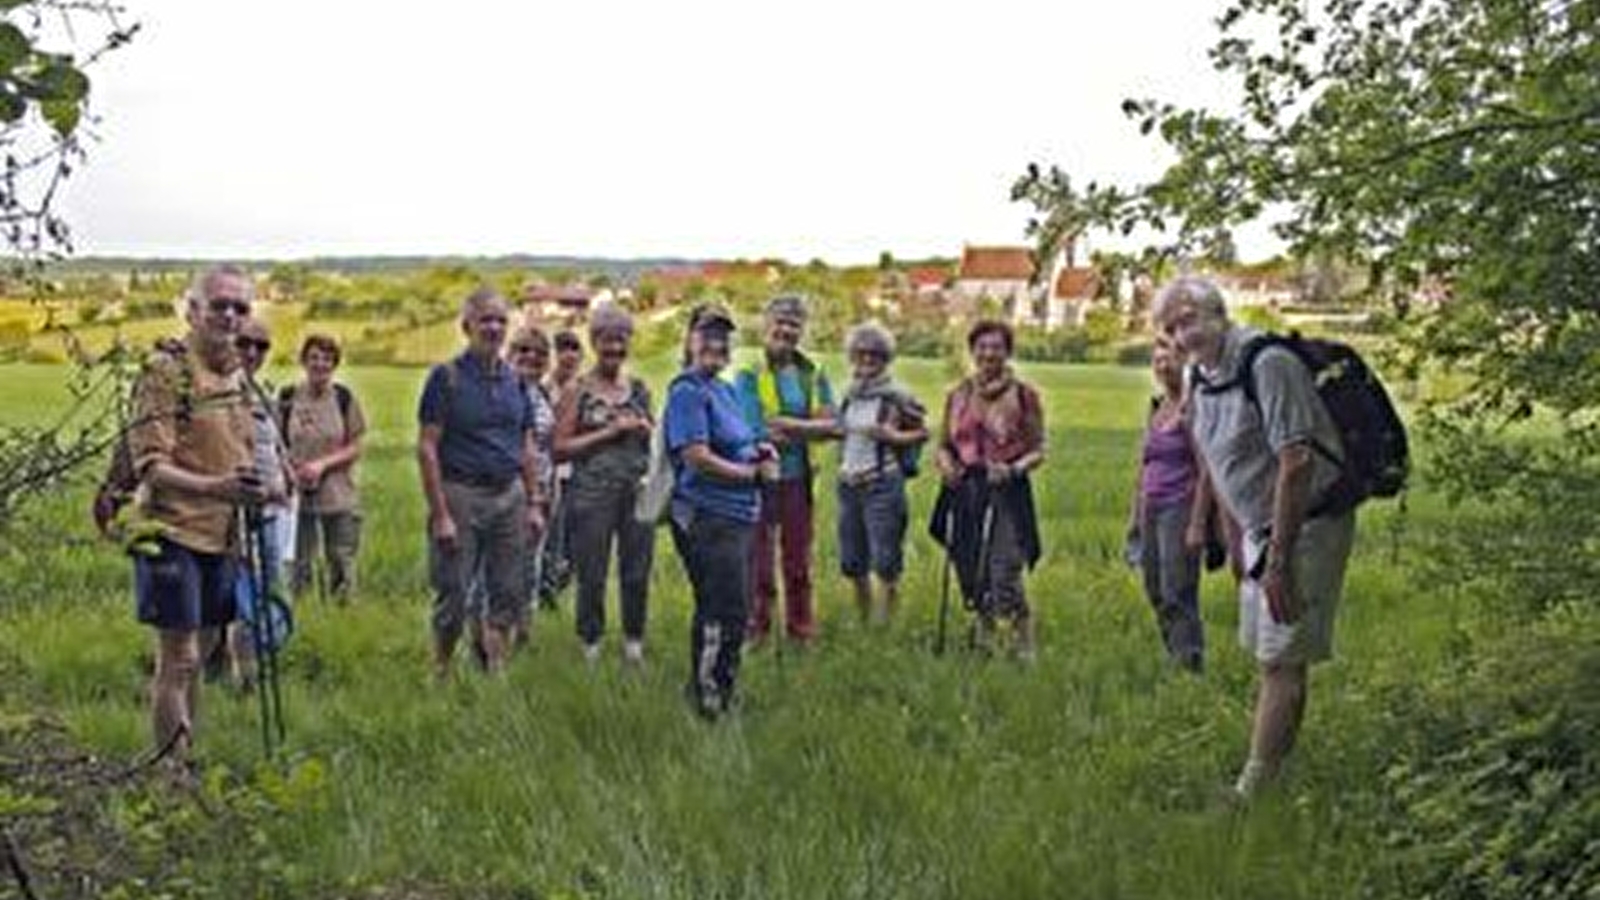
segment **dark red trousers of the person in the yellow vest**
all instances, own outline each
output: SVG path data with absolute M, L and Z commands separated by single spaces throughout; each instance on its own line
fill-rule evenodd
M 762 524 L 755 530 L 755 609 L 750 631 L 765 637 L 771 626 L 778 578 L 773 551 L 781 549 L 784 577 L 784 623 L 789 637 L 808 641 L 816 636 L 811 617 L 811 485 L 805 479 L 789 479 L 768 485 L 762 495 Z

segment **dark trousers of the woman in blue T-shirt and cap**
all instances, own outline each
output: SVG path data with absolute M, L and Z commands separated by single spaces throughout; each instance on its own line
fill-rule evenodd
M 702 714 L 726 711 L 739 677 L 754 532 L 749 522 L 702 512 L 672 517 L 672 543 L 694 589 L 688 692 Z

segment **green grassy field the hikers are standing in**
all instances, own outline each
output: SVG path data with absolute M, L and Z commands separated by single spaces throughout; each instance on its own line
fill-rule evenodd
M 0 368 L 0 421 L 43 415 L 62 372 Z M 1394 884 L 1373 826 L 1389 815 L 1384 698 L 1448 663 L 1456 609 L 1418 593 L 1390 511 L 1368 511 L 1341 653 L 1314 676 L 1283 790 L 1246 812 L 1219 802 L 1245 748 L 1253 669 L 1232 641 L 1229 578 L 1206 581 L 1208 669 L 1190 677 L 1162 660 L 1120 560 L 1141 370 L 1024 368 L 1050 424 L 1035 484 L 1045 557 L 1029 581 L 1035 665 L 931 655 L 930 476 L 914 488 L 904 609 L 886 629 L 858 625 L 824 488 L 821 641 L 747 658 L 746 705 L 714 727 L 680 701 L 690 597 L 666 535 L 643 673 L 622 671 L 614 636 L 603 665 L 582 665 L 568 596 L 504 679 L 462 671 L 434 685 L 411 456 L 422 372 L 346 375 L 373 423 L 363 588 L 350 607 L 298 605 L 285 762 L 261 764 L 253 703 L 206 689 L 208 783 L 250 790 L 261 810 L 253 844 L 189 873 L 195 895 L 1282 900 Z M 901 375 L 936 399 L 952 364 L 906 360 Z M 83 490 L 53 500 L 0 559 L 0 655 L 72 740 L 131 759 L 147 743 L 150 639 L 133 621 L 126 560 L 90 540 L 83 506 Z M 1413 495 L 1410 528 L 1437 516 Z M 21 697 L 6 692 L 8 713 Z

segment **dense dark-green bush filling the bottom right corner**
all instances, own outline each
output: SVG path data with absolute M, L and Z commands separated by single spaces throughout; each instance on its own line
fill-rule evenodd
M 1501 629 L 1498 629 L 1501 631 Z M 1504 631 L 1410 706 L 1386 775 L 1394 890 L 1434 900 L 1589 900 L 1600 884 L 1600 613 Z

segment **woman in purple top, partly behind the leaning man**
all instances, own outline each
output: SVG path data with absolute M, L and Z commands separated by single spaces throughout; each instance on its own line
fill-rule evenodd
M 1150 368 L 1162 394 L 1150 404 L 1144 431 L 1139 488 L 1128 524 L 1128 562 L 1144 572 L 1144 593 L 1155 609 L 1166 655 L 1200 671 L 1205 660 L 1200 554 L 1210 492 L 1186 421 L 1182 359 L 1166 341 L 1157 341 Z M 1190 522 L 1198 527 L 1190 528 Z

